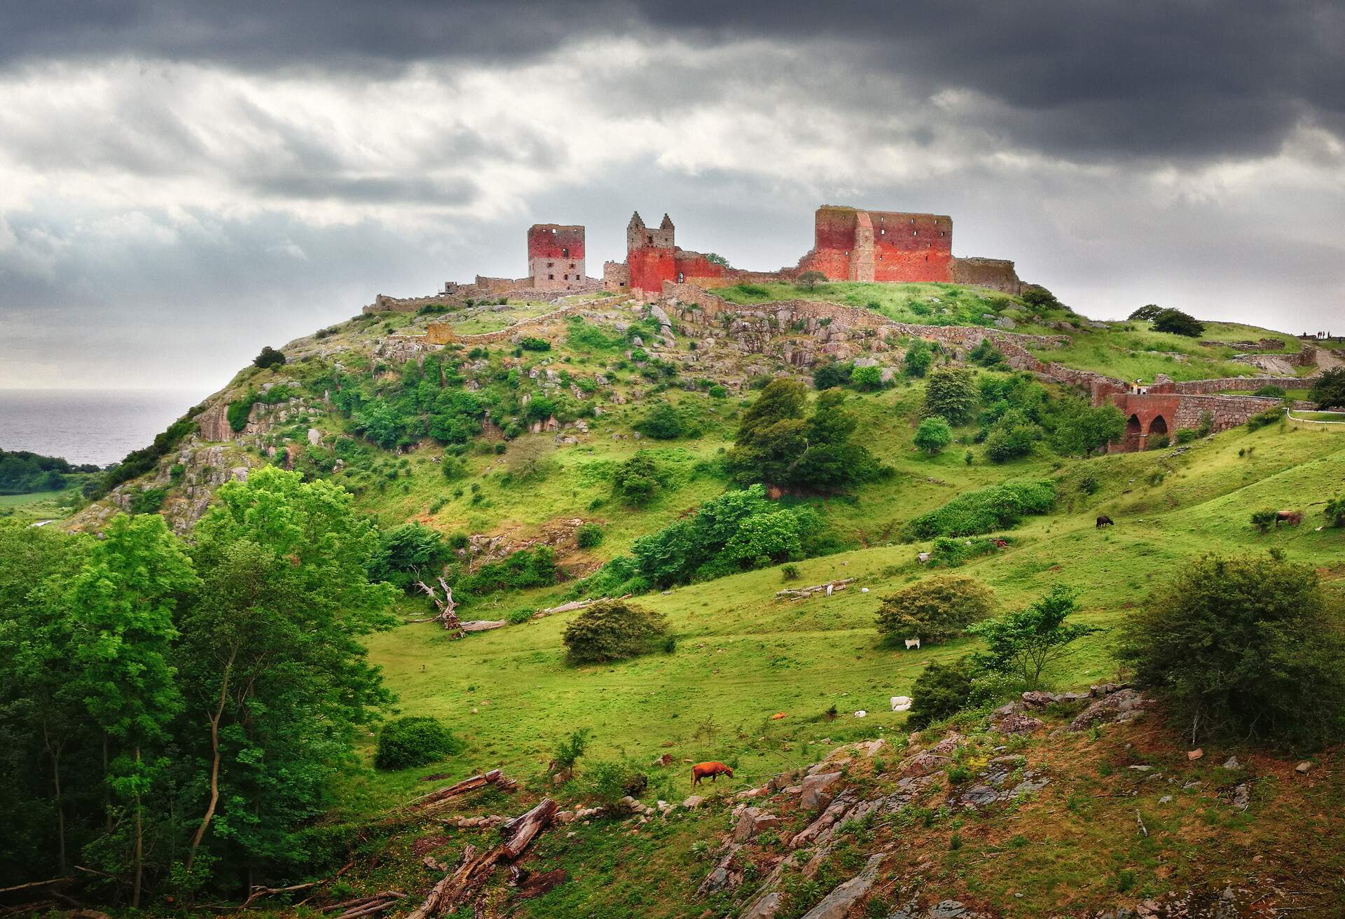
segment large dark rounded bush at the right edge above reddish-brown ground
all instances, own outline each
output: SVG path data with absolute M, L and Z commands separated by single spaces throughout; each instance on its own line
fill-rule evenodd
M 1201 737 L 1317 749 L 1345 736 L 1338 599 L 1283 556 L 1205 556 L 1157 588 L 1122 655 Z

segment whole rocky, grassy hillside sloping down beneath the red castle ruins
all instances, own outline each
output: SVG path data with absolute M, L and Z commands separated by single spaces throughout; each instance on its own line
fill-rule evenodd
M 905 358 L 921 342 L 937 346 L 935 367 L 970 367 L 982 394 L 1007 400 L 997 409 L 982 396 L 935 453 L 915 445 L 928 383 Z M 1330 348 L 1223 323 L 1186 338 L 959 285 L 768 284 L 679 285 L 655 304 L 581 295 L 366 312 L 280 351 L 284 363 L 241 371 L 63 526 L 97 531 L 120 510 L 159 510 L 188 534 L 221 483 L 281 466 L 342 484 L 385 531 L 417 522 L 441 534 L 452 549 L 457 615 L 506 623 L 455 639 L 424 622 L 433 611 L 412 588 L 398 601 L 406 622 L 366 638 L 397 709 L 441 719 L 465 748 L 421 768 L 360 771 L 335 790 L 321 832 L 340 842 L 315 860 L 312 877 L 347 861 L 358 868 L 330 881 L 323 902 L 398 889 L 409 896 L 386 914 L 397 915 L 444 875 L 436 865 L 452 868 L 468 842 L 494 840 L 494 823 L 457 826 L 456 817 L 516 815 L 543 795 L 573 814 L 599 801 L 592 778 L 613 763 L 647 776 L 638 797 L 652 810 L 553 826 L 521 864 L 534 876 L 565 872 L 564 883 L 530 891 L 533 899 L 496 872 L 477 915 L 785 919 L 863 877 L 866 864 L 872 883 L 847 887 L 861 896 L 841 904 L 854 906 L 851 915 L 1092 916 L 1139 906 L 1149 910 L 1139 915 L 1328 916 L 1345 908 L 1338 751 L 1303 772 L 1297 760 L 1239 747 L 1189 760 L 1189 745 L 1151 708 L 1068 731 L 1104 690 L 1028 709 L 1018 702 L 1013 716 L 1044 721 L 1025 731 L 995 727 L 1005 714 L 993 712 L 1013 704 L 1010 693 L 908 736 L 909 716 L 889 698 L 913 694 L 928 665 L 981 642 L 907 650 L 880 640 L 874 626 L 884 596 L 927 576 L 921 554 L 948 550 L 917 537 L 912 522 L 1006 482 L 1049 483 L 1052 507 L 956 533 L 978 542 L 952 568 L 991 588 L 1001 610 L 1057 583 L 1077 589 L 1075 619 L 1098 631 L 1048 667 L 1054 690 L 1123 682 L 1118 627 L 1194 556 L 1282 550 L 1345 596 L 1345 530 L 1319 526 L 1319 505 L 1345 491 L 1345 425 L 1293 420 L 1279 394 L 1251 396 L 1276 385 L 1291 401 L 1306 398 L 1309 378 L 1338 365 Z M 757 392 L 781 378 L 811 388 L 814 373 L 833 365 L 850 367 L 843 408 L 881 475 L 776 495 L 780 507 L 815 511 L 819 529 L 798 553 L 807 557 L 765 558 L 666 589 L 643 583 L 636 599 L 667 616 L 668 651 L 568 663 L 562 632 L 574 614 L 534 612 L 600 596 L 590 588 L 613 583 L 603 580 L 613 571 L 607 562 L 733 491 L 725 456 Z M 874 369 L 869 382 L 853 373 L 865 367 Z M 1213 396 L 1194 398 L 1237 393 L 1229 410 L 1240 414 L 1210 417 L 1200 432 L 1173 417 L 1161 437 L 1157 427 L 1145 431 L 1150 448 L 1139 452 L 1057 445 L 1054 425 L 1067 409 L 1087 408 L 1089 392 L 1108 404 L 1111 390 L 1099 386 L 1210 379 L 1220 381 Z M 659 405 L 677 409 L 675 432 L 650 425 Z M 1020 455 L 995 462 L 987 432 L 1006 412 L 1037 409 L 1037 433 Z M 993 417 L 976 417 L 986 412 Z M 1267 412 L 1274 417 L 1243 424 Z M 638 455 L 656 474 L 652 497 L 632 503 L 615 478 Z M 1306 515 L 1302 526 L 1258 533 L 1250 515 L 1264 509 Z M 1096 526 L 1103 514 L 1115 526 Z M 592 525 L 601 537 L 581 548 Z M 491 565 L 533 564 L 538 549 L 554 556 L 545 583 L 472 580 Z M 430 572 L 414 575 L 430 580 Z M 842 589 L 780 596 L 829 583 Z M 549 762 L 577 729 L 590 732 L 588 751 L 574 776 L 555 782 Z M 944 729 L 955 733 L 946 739 Z M 881 744 L 833 753 L 872 740 Z M 946 760 L 917 755 L 936 745 Z M 371 739 L 360 755 L 371 762 Z M 1231 755 L 1240 770 L 1221 768 Z M 829 756 L 837 768 L 815 774 L 842 775 L 810 805 L 802 774 Z M 734 774 L 698 791 L 709 798 L 702 806 L 685 809 L 687 763 L 702 760 Z M 382 819 L 428 790 L 495 768 L 521 790 Z M 803 791 L 790 791 L 800 782 Z M 968 788 L 987 787 L 983 801 L 967 798 Z M 667 815 L 660 801 L 674 805 Z M 827 810 L 837 803 L 843 807 Z M 742 838 L 726 840 L 744 826 L 746 805 L 761 810 L 748 813 Z M 835 826 L 792 842 L 827 813 Z M 779 822 L 759 826 L 753 818 L 767 814 Z M 698 893 L 721 858 L 722 885 Z M 937 912 L 950 899 L 963 911 Z

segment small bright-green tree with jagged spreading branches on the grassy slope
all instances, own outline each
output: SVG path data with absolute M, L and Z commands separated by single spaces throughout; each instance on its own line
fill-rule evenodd
M 979 659 L 991 670 L 1021 677 L 1028 689 L 1037 689 L 1048 663 L 1065 655 L 1075 640 L 1099 631 L 1093 626 L 1065 623 L 1067 616 L 1079 611 L 1075 597 L 1072 588 L 1056 584 L 1022 610 L 971 626 L 967 631 L 987 645 Z

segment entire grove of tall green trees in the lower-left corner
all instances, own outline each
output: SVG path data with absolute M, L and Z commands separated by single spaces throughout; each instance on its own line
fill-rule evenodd
M 23 560 L 0 566 L 0 745 L 24 763 L 0 770 L 0 881 L 78 861 L 134 903 L 288 876 L 390 701 L 359 642 L 393 622 L 377 533 L 336 486 L 262 468 L 190 554 L 157 515 L 105 536 L 0 527 Z

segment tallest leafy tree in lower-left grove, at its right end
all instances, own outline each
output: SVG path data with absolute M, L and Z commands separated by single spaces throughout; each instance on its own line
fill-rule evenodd
M 391 701 L 360 638 L 395 623 L 397 589 L 370 580 L 378 531 L 339 486 L 268 467 L 217 497 L 194 534 L 203 585 L 179 649 L 180 743 L 204 764 L 187 869 L 202 845 L 249 871 L 301 865 L 304 821 Z

